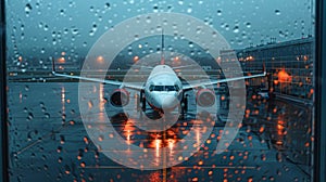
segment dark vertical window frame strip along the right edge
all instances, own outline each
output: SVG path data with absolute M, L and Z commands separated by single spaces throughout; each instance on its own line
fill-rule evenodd
M 326 179 L 326 3 L 316 0 L 316 28 L 315 28 L 315 129 L 314 129 L 314 181 Z M 324 80 L 324 81 L 323 81 Z M 324 84 L 323 84 L 324 83 Z

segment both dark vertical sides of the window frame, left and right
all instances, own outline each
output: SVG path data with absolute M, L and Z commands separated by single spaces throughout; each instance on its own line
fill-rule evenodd
M 314 134 L 314 181 L 326 179 L 326 3 L 316 0 L 316 32 L 315 32 L 315 134 Z M 8 133 L 8 107 L 7 107 L 7 41 L 5 41 L 5 1 L 0 2 L 0 104 L 1 104 L 1 143 L 0 168 L 2 176 L 0 181 L 9 181 L 9 133 Z

